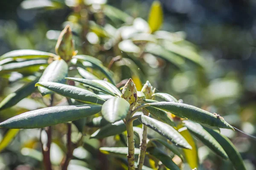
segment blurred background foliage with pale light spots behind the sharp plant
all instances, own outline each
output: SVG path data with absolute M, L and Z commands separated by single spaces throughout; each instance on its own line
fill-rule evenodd
M 147 34 L 149 30 L 145 24 L 152 2 L 0 1 L 0 55 L 16 49 L 54 53 L 60 30 L 69 24 L 79 54 L 94 56 L 106 67 L 113 57 L 120 55 L 125 58 L 121 61 L 117 58 L 118 61 L 111 68 L 116 75 L 116 82 L 132 77 L 140 89 L 143 82 L 149 80 L 157 91 L 172 94 L 177 99 L 183 99 L 184 103 L 218 113 L 231 125 L 256 136 L 256 2 L 160 0 L 164 16 L 160 30 L 171 33 L 156 31 L 153 33 L 154 37 Z M 77 3 L 84 4 L 82 10 L 76 7 Z M 115 11 L 116 8 L 111 6 L 121 11 Z M 138 30 L 141 34 L 132 35 Z M 116 37 L 118 31 L 120 34 Z M 173 43 L 170 42 L 175 42 L 175 45 L 182 47 L 177 49 L 178 52 L 187 52 L 188 55 L 185 55 L 191 57 L 194 54 L 196 57 L 200 55 L 199 64 L 191 62 L 190 59 L 175 64 L 156 57 L 160 54 L 152 52 L 154 49 L 150 43 L 145 45 L 146 42 L 154 42 L 156 37 L 163 40 L 161 45 L 165 48 L 172 48 Z M 168 38 L 169 41 L 165 41 Z M 124 41 L 113 45 L 116 40 Z M 146 53 L 140 54 L 140 48 L 145 48 Z M 164 50 L 160 48 L 157 51 Z M 31 77 L 22 77 L 23 75 L 15 73 L 6 80 L 6 77 L 0 75 L 0 101 L 31 81 Z M 32 94 L 15 107 L 0 111 L 0 119 L 3 121 L 25 111 L 44 108 L 49 99 L 43 100 L 44 102 L 39 94 Z M 61 97 L 56 95 L 56 104 L 60 100 Z M 65 152 L 65 147 L 59 141 L 59 138 L 65 137 L 65 128 L 64 125 L 57 125 L 53 133 L 51 153 L 52 162 L 56 165 L 60 163 Z M 93 133 L 95 130 L 88 128 L 87 131 Z M 1 129 L 0 132 L 1 139 L 6 130 Z M 238 131 L 221 130 L 221 133 L 235 144 L 247 169 L 255 170 L 255 139 Z M 37 150 L 40 149 L 38 136 L 39 130 L 21 130 L 9 147 L 0 153 L 0 169 L 37 169 L 42 160 Z M 104 145 L 113 146 L 113 140 L 122 141 L 122 137 L 107 138 Z M 106 157 L 99 152 L 98 148 L 103 146 L 102 141 L 89 140 L 85 136 L 84 142 L 90 149 L 79 147 L 75 150 L 74 156 L 77 159 L 71 162 L 71 166 L 75 166 L 72 169 L 76 169 L 78 164 L 92 170 L 116 166 L 107 163 L 108 159 L 117 160 L 116 158 Z M 200 169 L 232 169 L 228 161 L 221 160 L 199 141 L 196 142 Z M 122 164 L 122 161 L 119 159 L 116 164 Z M 184 169 L 186 168 L 189 167 L 185 166 Z

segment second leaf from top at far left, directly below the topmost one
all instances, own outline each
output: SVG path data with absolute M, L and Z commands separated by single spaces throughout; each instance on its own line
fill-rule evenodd
M 46 66 L 47 60 L 45 59 L 36 59 L 23 62 L 13 62 L 0 66 L 0 72 L 6 73 L 10 71 L 19 71 L 23 73 L 37 71 L 40 66 Z

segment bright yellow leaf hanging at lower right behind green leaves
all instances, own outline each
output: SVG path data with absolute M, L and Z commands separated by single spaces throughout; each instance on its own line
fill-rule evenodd
M 183 149 L 183 153 L 185 155 L 186 161 L 191 167 L 191 169 L 198 168 L 198 149 L 195 145 L 195 141 L 189 130 L 184 127 L 182 124 L 177 126 L 178 132 L 186 139 L 186 141 L 192 146 L 192 150 Z

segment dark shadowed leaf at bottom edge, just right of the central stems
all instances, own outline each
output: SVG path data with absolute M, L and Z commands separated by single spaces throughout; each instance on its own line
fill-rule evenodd
M 170 170 L 180 170 L 180 168 L 172 161 L 172 158 L 157 147 L 148 147 L 147 152 L 159 159 Z

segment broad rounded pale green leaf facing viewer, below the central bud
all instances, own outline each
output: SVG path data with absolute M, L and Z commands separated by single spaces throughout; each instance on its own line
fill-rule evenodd
M 130 104 L 122 98 L 112 97 L 102 105 L 102 116 L 108 122 L 114 123 L 126 117 Z

